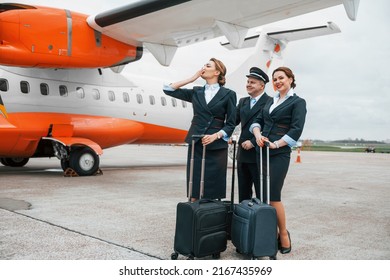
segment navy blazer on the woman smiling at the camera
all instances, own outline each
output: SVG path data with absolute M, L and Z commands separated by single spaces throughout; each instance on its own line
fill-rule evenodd
M 269 109 L 272 104 L 273 99 L 264 106 L 264 109 L 254 121 L 254 123 L 260 125 L 263 124 L 261 125 L 261 134 L 268 137 L 271 142 L 281 139 L 285 134 L 298 141 L 305 125 L 306 101 L 294 94 L 277 106 L 270 114 Z M 291 148 L 288 145 L 270 150 L 271 155 L 290 152 Z

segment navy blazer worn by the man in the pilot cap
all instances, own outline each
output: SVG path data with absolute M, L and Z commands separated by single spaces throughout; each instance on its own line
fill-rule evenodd
M 256 147 L 256 138 L 249 131 L 249 127 L 252 125 L 256 116 L 263 109 L 264 105 L 272 100 L 272 97 L 264 93 L 260 99 L 256 102 L 253 108 L 250 108 L 251 97 L 243 97 L 240 99 L 236 109 L 236 125 L 241 123 L 241 134 L 238 139 L 237 160 L 241 162 L 256 163 L 256 153 L 254 152 Z M 263 123 L 260 124 L 263 126 Z M 250 140 L 253 149 L 245 150 L 241 147 L 241 144 L 247 140 Z

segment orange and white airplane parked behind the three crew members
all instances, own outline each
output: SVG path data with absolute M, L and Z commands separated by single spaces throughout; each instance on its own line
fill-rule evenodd
M 166 96 L 158 78 L 123 75 L 127 64 L 148 51 L 168 67 L 178 48 L 225 36 L 223 47 L 253 48 L 227 79 L 242 89 L 248 69 L 269 69 L 290 41 L 340 32 L 253 28 L 340 4 L 355 20 L 359 0 L 143 0 L 90 16 L 0 3 L 0 162 L 55 156 L 64 172 L 90 176 L 103 149 L 183 144 L 191 104 Z

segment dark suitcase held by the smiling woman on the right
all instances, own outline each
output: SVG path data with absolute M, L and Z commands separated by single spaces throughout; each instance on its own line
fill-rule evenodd
M 263 159 L 260 149 L 261 200 L 244 200 L 234 208 L 232 219 L 232 243 L 237 252 L 251 256 L 276 259 L 278 253 L 277 217 L 270 203 L 269 146 L 267 150 L 267 203 L 263 199 Z

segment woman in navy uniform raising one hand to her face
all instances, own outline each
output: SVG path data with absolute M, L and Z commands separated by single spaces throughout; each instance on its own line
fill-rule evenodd
M 204 174 L 204 198 L 226 197 L 226 174 L 228 140 L 235 128 L 236 93 L 225 88 L 226 67 L 218 59 L 211 58 L 192 77 L 164 86 L 165 94 L 191 102 L 193 118 L 185 142 L 189 144 L 187 155 L 187 193 L 190 175 L 190 160 L 193 135 L 204 135 L 195 139 L 192 201 L 200 198 L 200 172 L 203 145 L 206 145 Z M 190 89 L 183 86 L 205 80 L 204 86 Z

